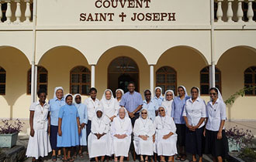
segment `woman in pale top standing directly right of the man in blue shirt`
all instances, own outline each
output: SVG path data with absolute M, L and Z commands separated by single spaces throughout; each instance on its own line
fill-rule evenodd
M 142 107 L 147 109 L 148 117 L 150 120 L 154 121 L 156 117 L 156 113 L 158 110 L 158 103 L 157 100 L 151 100 L 151 92 L 150 89 L 146 89 L 144 91 L 145 100 L 143 101 Z

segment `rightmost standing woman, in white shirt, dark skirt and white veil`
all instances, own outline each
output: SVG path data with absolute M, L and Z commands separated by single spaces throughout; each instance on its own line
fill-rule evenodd
M 225 133 L 226 104 L 223 102 L 220 90 L 209 89 L 210 101 L 206 106 L 206 154 L 212 154 L 213 161 L 222 162 L 228 157 L 228 143 Z

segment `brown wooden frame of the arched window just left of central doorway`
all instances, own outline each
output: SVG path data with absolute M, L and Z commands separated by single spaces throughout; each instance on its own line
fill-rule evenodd
M 91 88 L 91 83 L 92 83 L 91 70 L 88 69 L 88 72 L 72 72 L 74 69 L 76 69 L 78 67 L 83 67 L 85 69 L 88 69 L 88 67 L 86 67 L 86 66 L 74 66 L 74 68 L 72 68 L 70 70 L 69 93 L 74 95 L 74 93 L 72 93 L 72 86 L 73 85 L 78 85 L 79 86 L 79 94 L 88 96 L 89 95 L 88 93 L 87 94 L 82 93 L 82 86 L 88 85 Z M 72 83 L 72 74 L 79 74 L 79 83 Z M 89 83 L 82 83 L 82 75 L 83 74 L 88 74 L 90 76 L 90 82 Z

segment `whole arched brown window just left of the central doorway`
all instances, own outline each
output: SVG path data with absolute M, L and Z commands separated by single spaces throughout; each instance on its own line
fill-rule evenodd
M 73 69 L 71 69 L 70 80 L 70 92 L 72 94 L 89 94 L 89 90 L 91 88 L 91 72 L 85 66 L 76 66 Z

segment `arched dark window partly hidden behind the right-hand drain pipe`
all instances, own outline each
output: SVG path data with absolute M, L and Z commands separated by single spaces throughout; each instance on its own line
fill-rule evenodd
M 215 68 L 215 86 L 221 92 L 221 73 L 220 69 Z M 203 68 L 200 72 L 200 93 L 209 94 L 209 66 Z

